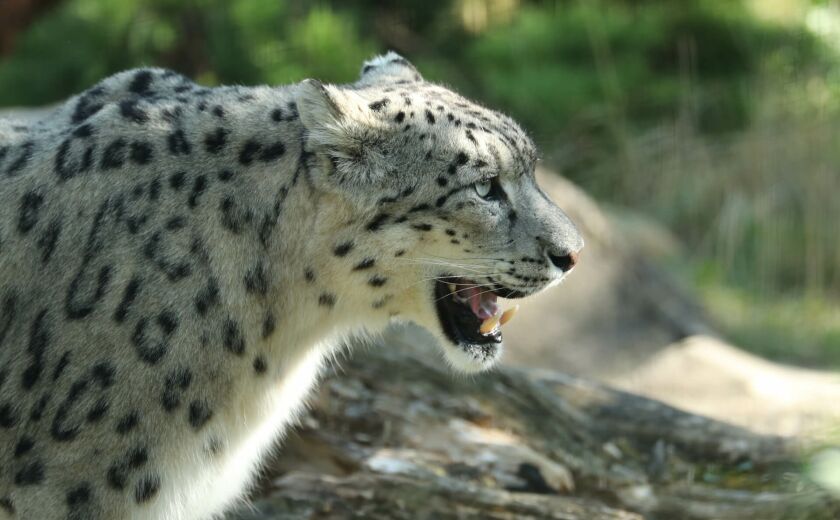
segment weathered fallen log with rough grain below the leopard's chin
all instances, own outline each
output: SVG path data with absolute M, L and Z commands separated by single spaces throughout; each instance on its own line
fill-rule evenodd
M 555 372 L 453 374 L 417 338 L 338 362 L 230 518 L 840 518 L 791 439 Z

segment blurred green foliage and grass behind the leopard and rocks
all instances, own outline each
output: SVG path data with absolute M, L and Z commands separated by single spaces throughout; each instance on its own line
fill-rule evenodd
M 205 84 L 349 82 L 392 48 L 521 120 L 597 197 L 676 231 L 714 266 L 705 294 L 741 295 L 714 306 L 761 311 L 723 315 L 739 339 L 836 353 L 836 327 L 760 332 L 807 312 L 777 298 L 840 297 L 840 126 L 826 116 L 840 113 L 840 66 L 801 23 L 758 20 L 745 1 L 64 0 L 0 57 L 0 106 L 57 102 L 141 65 Z

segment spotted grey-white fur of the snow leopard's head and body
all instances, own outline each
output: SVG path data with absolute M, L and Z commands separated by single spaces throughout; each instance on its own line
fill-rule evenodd
M 535 160 L 393 53 L 344 86 L 133 70 L 0 121 L 0 518 L 218 514 L 340 340 L 395 319 L 492 365 L 441 334 L 431 280 L 559 279 L 582 242 Z

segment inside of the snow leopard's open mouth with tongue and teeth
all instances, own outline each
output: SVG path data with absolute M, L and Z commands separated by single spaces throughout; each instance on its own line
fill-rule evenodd
M 438 319 L 450 341 L 463 347 L 501 344 L 501 327 L 513 318 L 519 306 L 502 312 L 496 302 L 499 292 L 465 278 L 445 276 L 436 280 Z

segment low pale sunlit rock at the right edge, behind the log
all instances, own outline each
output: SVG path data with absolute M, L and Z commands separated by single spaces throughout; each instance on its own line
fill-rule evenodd
M 840 374 L 771 363 L 709 336 L 674 343 L 610 383 L 753 431 L 819 435 L 840 424 Z

